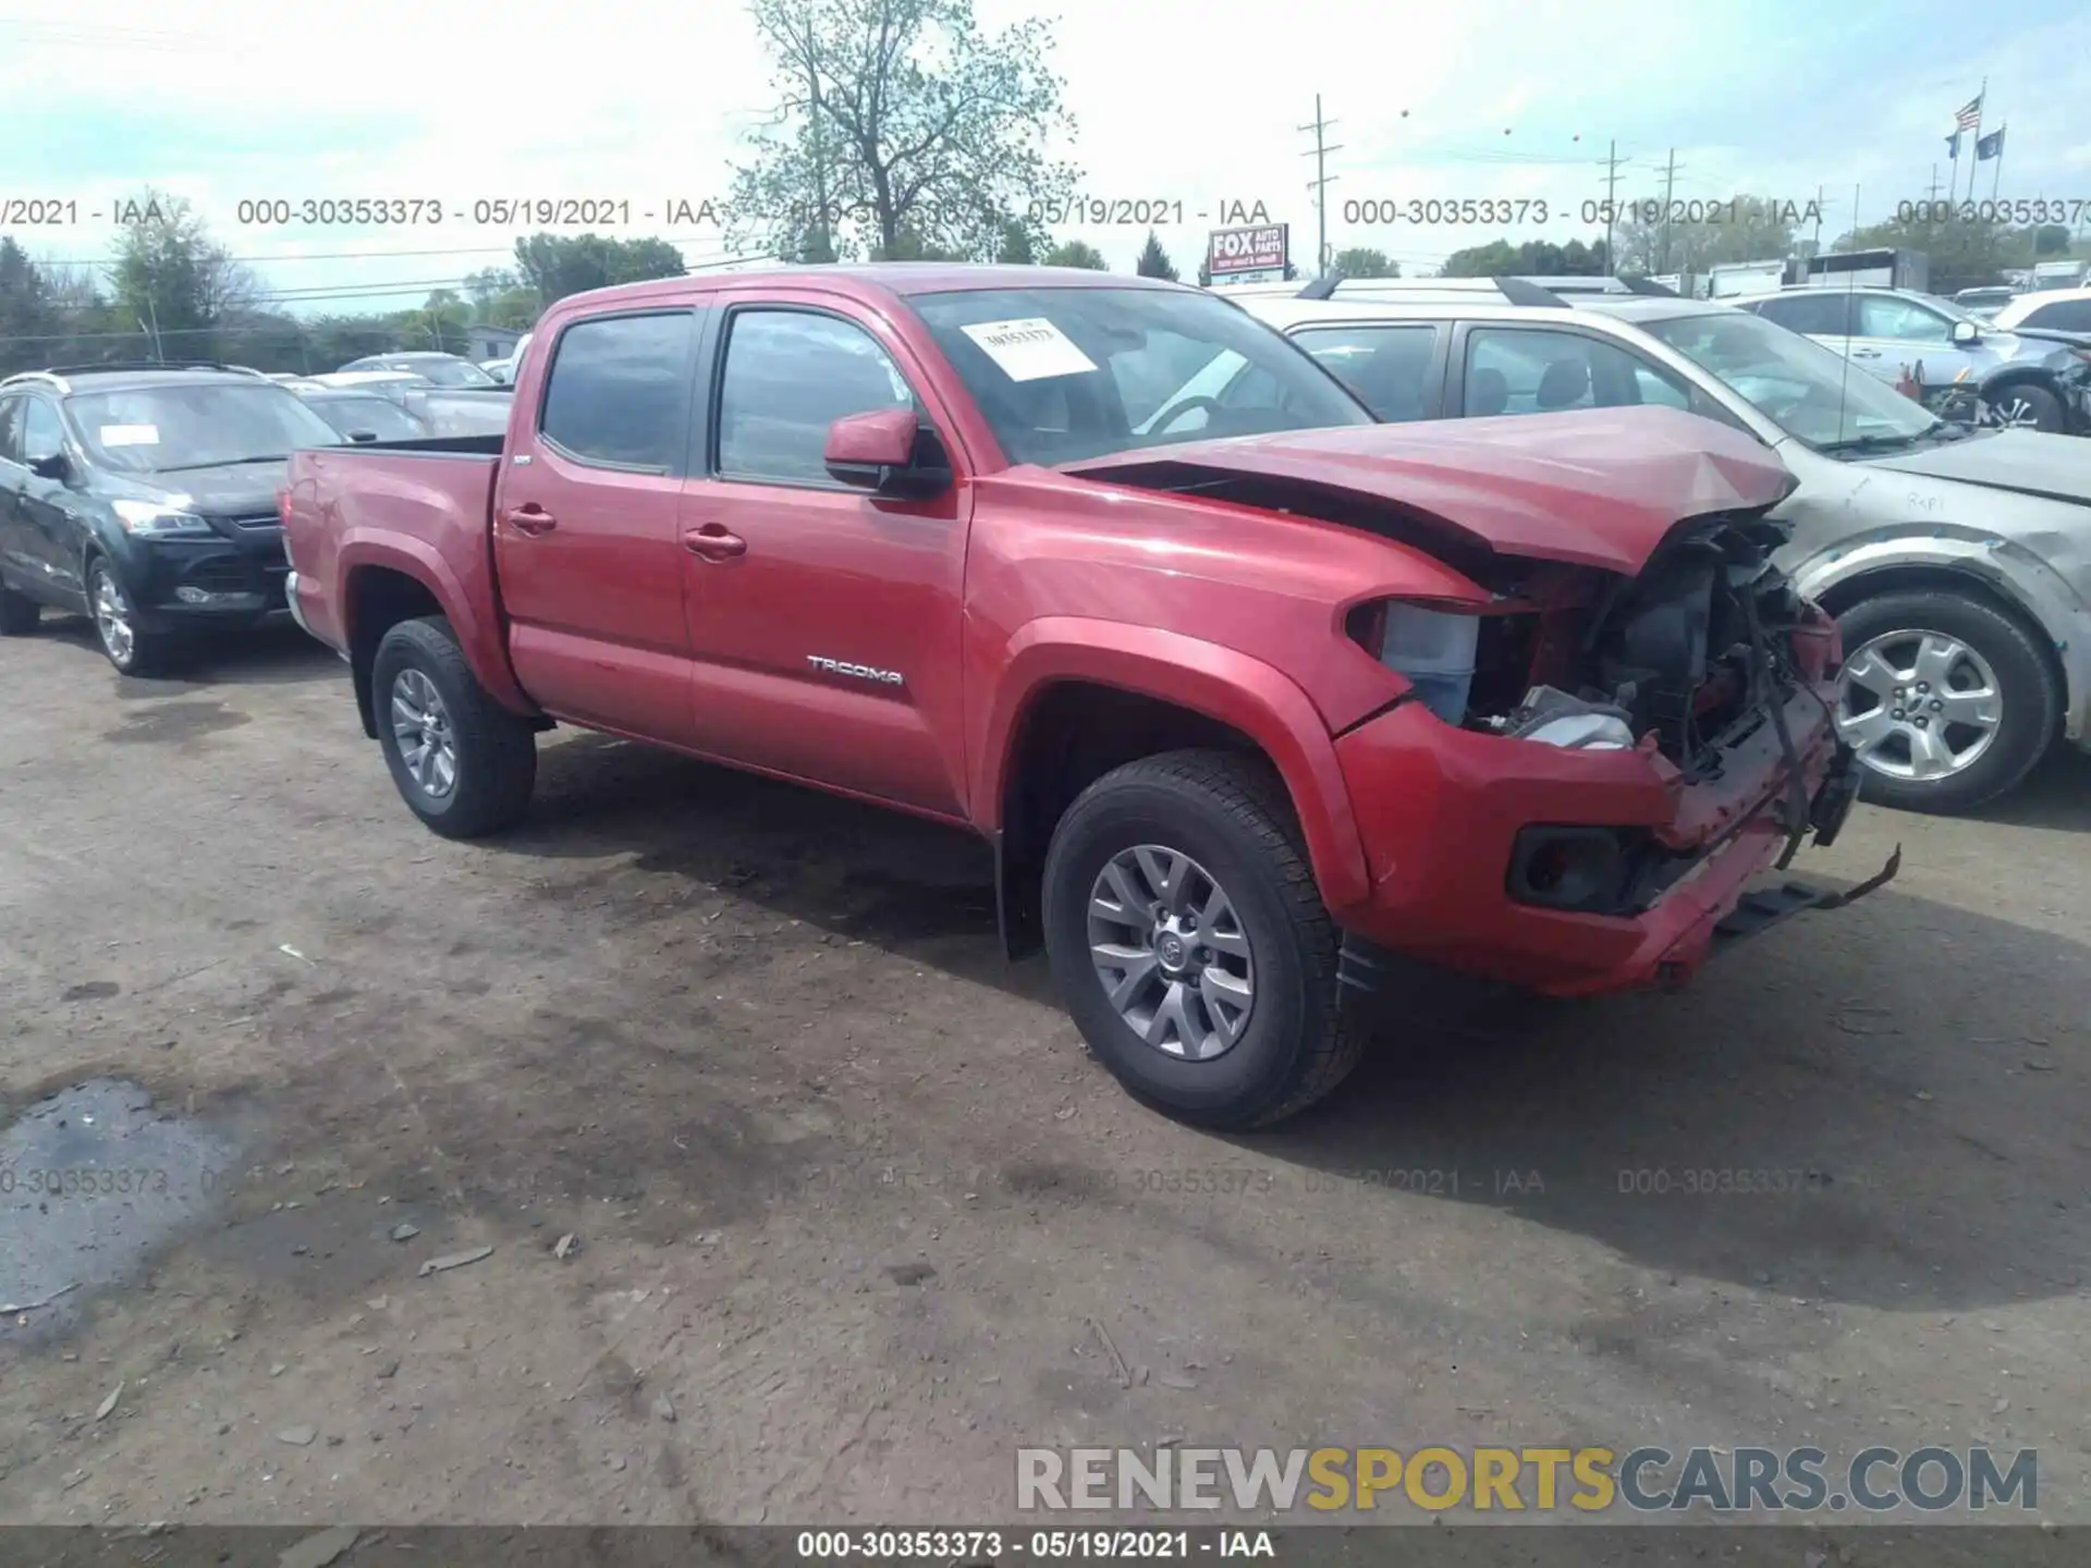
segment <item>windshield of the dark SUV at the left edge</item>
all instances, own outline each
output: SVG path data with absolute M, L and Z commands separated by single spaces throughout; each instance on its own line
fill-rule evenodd
M 335 447 L 341 435 L 268 383 L 134 387 L 82 393 L 65 403 L 96 462 L 134 475 L 215 468 Z

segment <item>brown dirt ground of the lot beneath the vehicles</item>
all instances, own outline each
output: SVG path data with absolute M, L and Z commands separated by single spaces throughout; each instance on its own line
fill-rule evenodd
M 1018 1445 L 1171 1438 L 1991 1440 L 2091 1520 L 2081 757 L 1861 807 L 1798 870 L 1901 880 L 1681 995 L 1420 985 L 1223 1139 L 941 830 L 560 732 L 450 845 L 297 631 L 148 684 L 46 623 L 0 679 L 0 1127 L 180 1133 L 159 1208 L 0 1252 L 77 1284 L 0 1325 L 0 1520 L 987 1522 Z

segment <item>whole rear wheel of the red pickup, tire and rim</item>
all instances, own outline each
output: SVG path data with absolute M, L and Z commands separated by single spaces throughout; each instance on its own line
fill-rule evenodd
M 370 665 L 378 744 L 399 797 L 445 838 L 500 832 L 529 811 L 537 734 L 473 675 L 450 621 L 401 621 Z

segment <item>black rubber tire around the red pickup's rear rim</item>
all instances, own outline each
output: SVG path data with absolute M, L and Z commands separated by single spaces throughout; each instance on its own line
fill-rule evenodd
M 435 686 L 447 715 L 456 778 L 439 794 L 414 778 L 393 732 L 393 694 L 408 671 Z M 479 838 L 512 828 L 529 811 L 537 786 L 537 732 L 487 696 L 450 621 L 431 615 L 385 633 L 370 663 L 370 705 L 399 799 L 429 828 L 445 838 Z

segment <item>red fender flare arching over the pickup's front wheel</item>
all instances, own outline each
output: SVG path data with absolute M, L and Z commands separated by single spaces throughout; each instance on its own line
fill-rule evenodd
M 1336 744 L 1307 694 L 1261 659 L 1123 621 L 1041 617 L 1010 640 L 972 782 L 974 815 L 985 832 L 1002 828 L 1018 725 L 1058 682 L 1115 686 L 1240 730 L 1271 759 L 1292 797 L 1322 901 L 1338 909 L 1372 895 Z

